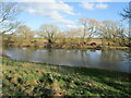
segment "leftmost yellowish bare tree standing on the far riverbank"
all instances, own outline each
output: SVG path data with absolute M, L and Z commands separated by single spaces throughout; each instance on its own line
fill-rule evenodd
M 19 46 L 21 46 L 22 44 L 29 45 L 34 38 L 34 35 L 35 35 L 34 30 L 32 30 L 26 25 L 22 25 L 22 26 L 19 26 L 13 34 L 10 34 L 10 35 L 7 34 L 7 35 L 3 35 L 3 37 L 4 36 L 7 37 L 8 45 L 19 44 Z

